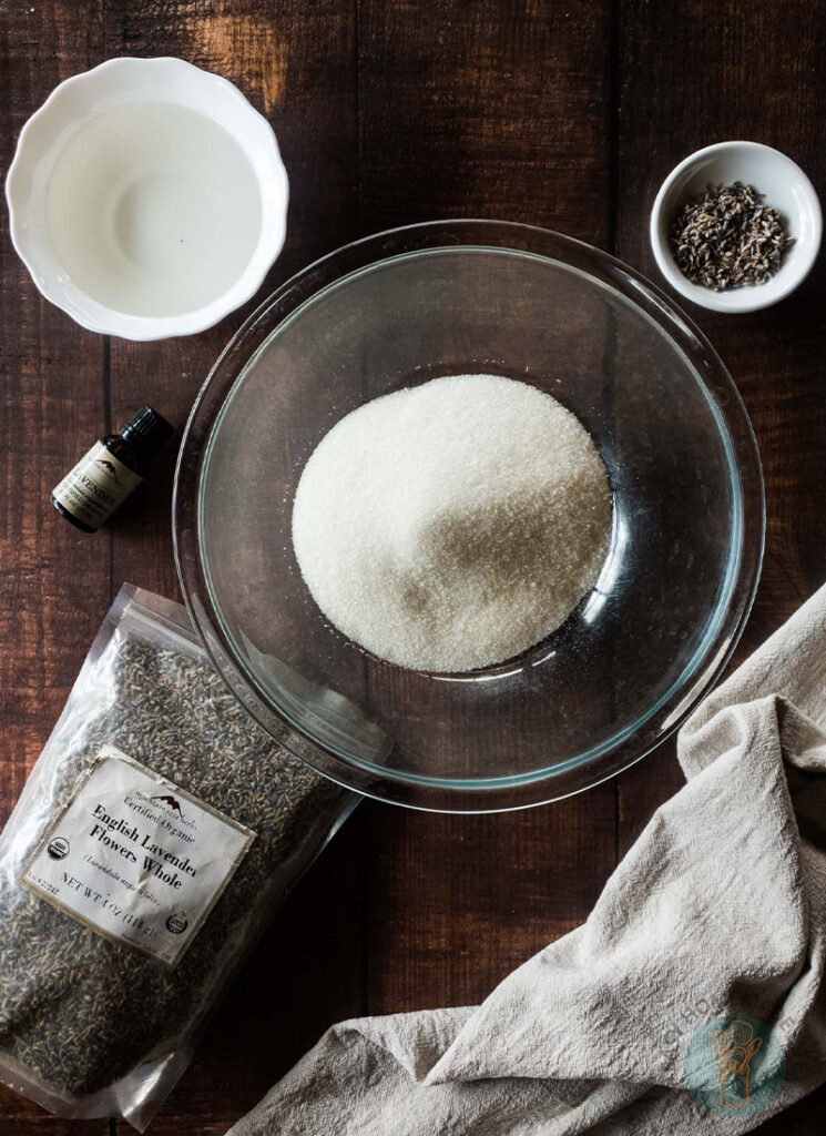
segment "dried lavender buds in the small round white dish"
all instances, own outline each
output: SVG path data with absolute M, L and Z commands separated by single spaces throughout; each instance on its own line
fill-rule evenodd
M 692 284 L 727 292 L 766 284 L 793 243 L 774 206 L 760 203 L 752 185 L 709 185 L 674 218 L 671 244 Z

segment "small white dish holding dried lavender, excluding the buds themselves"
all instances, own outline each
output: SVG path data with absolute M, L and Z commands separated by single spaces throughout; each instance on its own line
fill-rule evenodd
M 783 214 L 794 244 L 766 284 L 715 292 L 692 284 L 676 266 L 671 227 L 680 206 L 709 185 L 753 185 L 766 204 Z M 791 158 L 759 142 L 718 142 L 690 154 L 660 186 L 651 210 L 651 248 L 659 270 L 686 300 L 713 311 L 757 311 L 777 303 L 808 276 L 820 248 L 823 217 L 815 187 Z

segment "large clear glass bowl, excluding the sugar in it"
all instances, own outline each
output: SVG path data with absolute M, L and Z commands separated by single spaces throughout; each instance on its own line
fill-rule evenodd
M 608 470 L 613 542 L 546 642 L 420 674 L 326 621 L 293 556 L 293 496 L 344 415 L 466 371 L 532 383 L 578 416 Z M 322 774 L 449 811 L 565 796 L 674 730 L 738 640 L 762 538 L 755 437 L 700 332 L 605 253 L 492 222 L 381 233 L 288 281 L 209 376 L 175 490 L 186 602 L 244 704 Z

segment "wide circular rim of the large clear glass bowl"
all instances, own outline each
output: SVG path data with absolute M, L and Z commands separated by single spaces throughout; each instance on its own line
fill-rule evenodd
M 250 674 L 224 627 L 200 536 L 201 479 L 214 427 L 231 391 L 271 335 L 306 302 L 369 268 L 402 256 L 474 248 L 529 253 L 584 273 L 654 321 L 702 387 L 731 450 L 734 468 L 730 475 L 739 477 L 742 506 L 738 563 L 713 613 L 716 626 L 668 692 L 633 725 L 582 754 L 550 769 L 477 782 L 369 766 L 322 747 L 292 722 Z M 439 812 L 503 811 L 560 800 L 629 768 L 673 734 L 719 677 L 736 646 L 757 590 L 765 525 L 762 474 L 751 423 L 733 379 L 699 328 L 644 276 L 592 245 L 537 226 L 477 219 L 424 222 L 362 237 L 311 262 L 269 295 L 230 339 L 199 392 L 184 429 L 172 491 L 175 560 L 184 600 L 233 693 L 270 734 L 318 772 L 368 796 Z

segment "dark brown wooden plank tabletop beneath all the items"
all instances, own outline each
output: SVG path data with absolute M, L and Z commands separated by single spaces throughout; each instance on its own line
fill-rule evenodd
M 236 82 L 278 135 L 292 204 L 267 287 L 371 231 L 448 216 L 559 229 L 658 279 L 648 212 L 689 151 L 767 142 L 826 190 L 825 43 L 817 0 L 3 0 L 3 172 L 58 82 L 112 56 L 176 55 Z M 49 491 L 145 402 L 183 425 L 248 310 L 192 339 L 110 342 L 40 298 L 6 210 L 2 224 L 0 819 L 120 584 L 178 594 L 171 460 L 96 536 L 61 521 Z M 740 387 L 766 473 L 766 562 L 740 658 L 826 576 L 823 300 L 821 261 L 768 311 L 691 311 Z M 681 780 L 666 744 L 521 813 L 365 803 L 276 918 L 152 1133 L 224 1133 L 338 1019 L 481 1000 L 587 917 Z M 825 1105 L 821 1091 L 764 1131 L 819 1133 Z M 69 1126 L 0 1092 L 0 1136 L 69 1128 L 128 1130 Z

